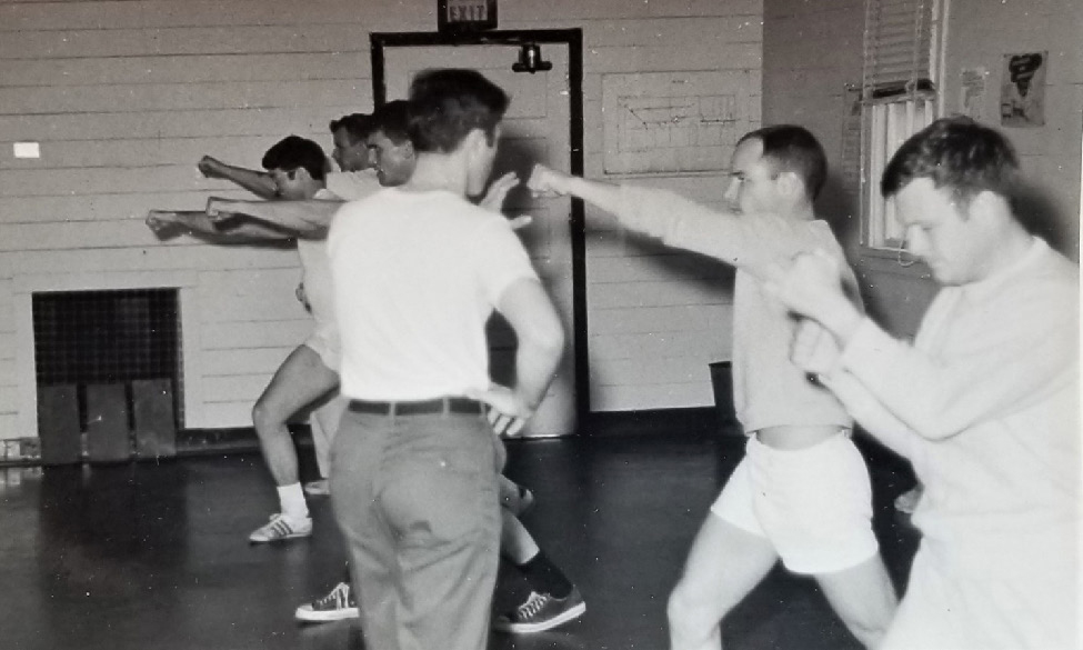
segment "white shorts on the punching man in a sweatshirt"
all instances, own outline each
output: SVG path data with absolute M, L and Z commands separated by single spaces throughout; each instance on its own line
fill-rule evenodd
M 880 549 L 872 532 L 869 470 L 844 430 L 799 450 L 774 449 L 750 437 L 711 512 L 766 538 L 794 573 L 841 571 Z

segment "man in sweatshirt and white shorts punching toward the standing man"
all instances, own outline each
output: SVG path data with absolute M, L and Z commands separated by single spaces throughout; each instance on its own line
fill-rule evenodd
M 630 230 L 738 270 L 733 399 L 749 441 L 670 596 L 670 647 L 718 650 L 722 619 L 781 558 L 815 578 L 851 632 L 875 648 L 895 593 L 872 532 L 869 471 L 842 404 L 786 358 L 793 320 L 759 281 L 773 264 L 818 248 L 844 264 L 813 210 L 826 176 L 823 149 L 801 127 L 766 127 L 738 142 L 730 173 L 732 211 L 541 167 L 529 184 L 580 197 Z

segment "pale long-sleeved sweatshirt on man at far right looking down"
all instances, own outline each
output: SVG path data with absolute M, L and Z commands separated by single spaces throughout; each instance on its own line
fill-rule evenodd
M 865 320 L 828 378 L 914 464 L 914 523 L 966 571 L 1069 570 L 1081 521 L 1079 267 L 1042 240 L 944 288 L 913 346 Z M 1019 559 L 1005 566 L 1005 559 Z

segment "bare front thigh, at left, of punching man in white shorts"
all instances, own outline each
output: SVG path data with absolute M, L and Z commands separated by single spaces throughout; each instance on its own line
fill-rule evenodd
M 709 513 L 670 594 L 671 650 L 719 650 L 722 618 L 763 580 L 778 559 L 765 538 Z

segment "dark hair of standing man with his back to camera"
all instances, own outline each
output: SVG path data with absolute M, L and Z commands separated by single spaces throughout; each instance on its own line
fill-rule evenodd
M 410 140 L 418 151 L 450 153 L 481 129 L 492 144 L 509 101 L 475 70 L 424 70 L 410 84 Z

